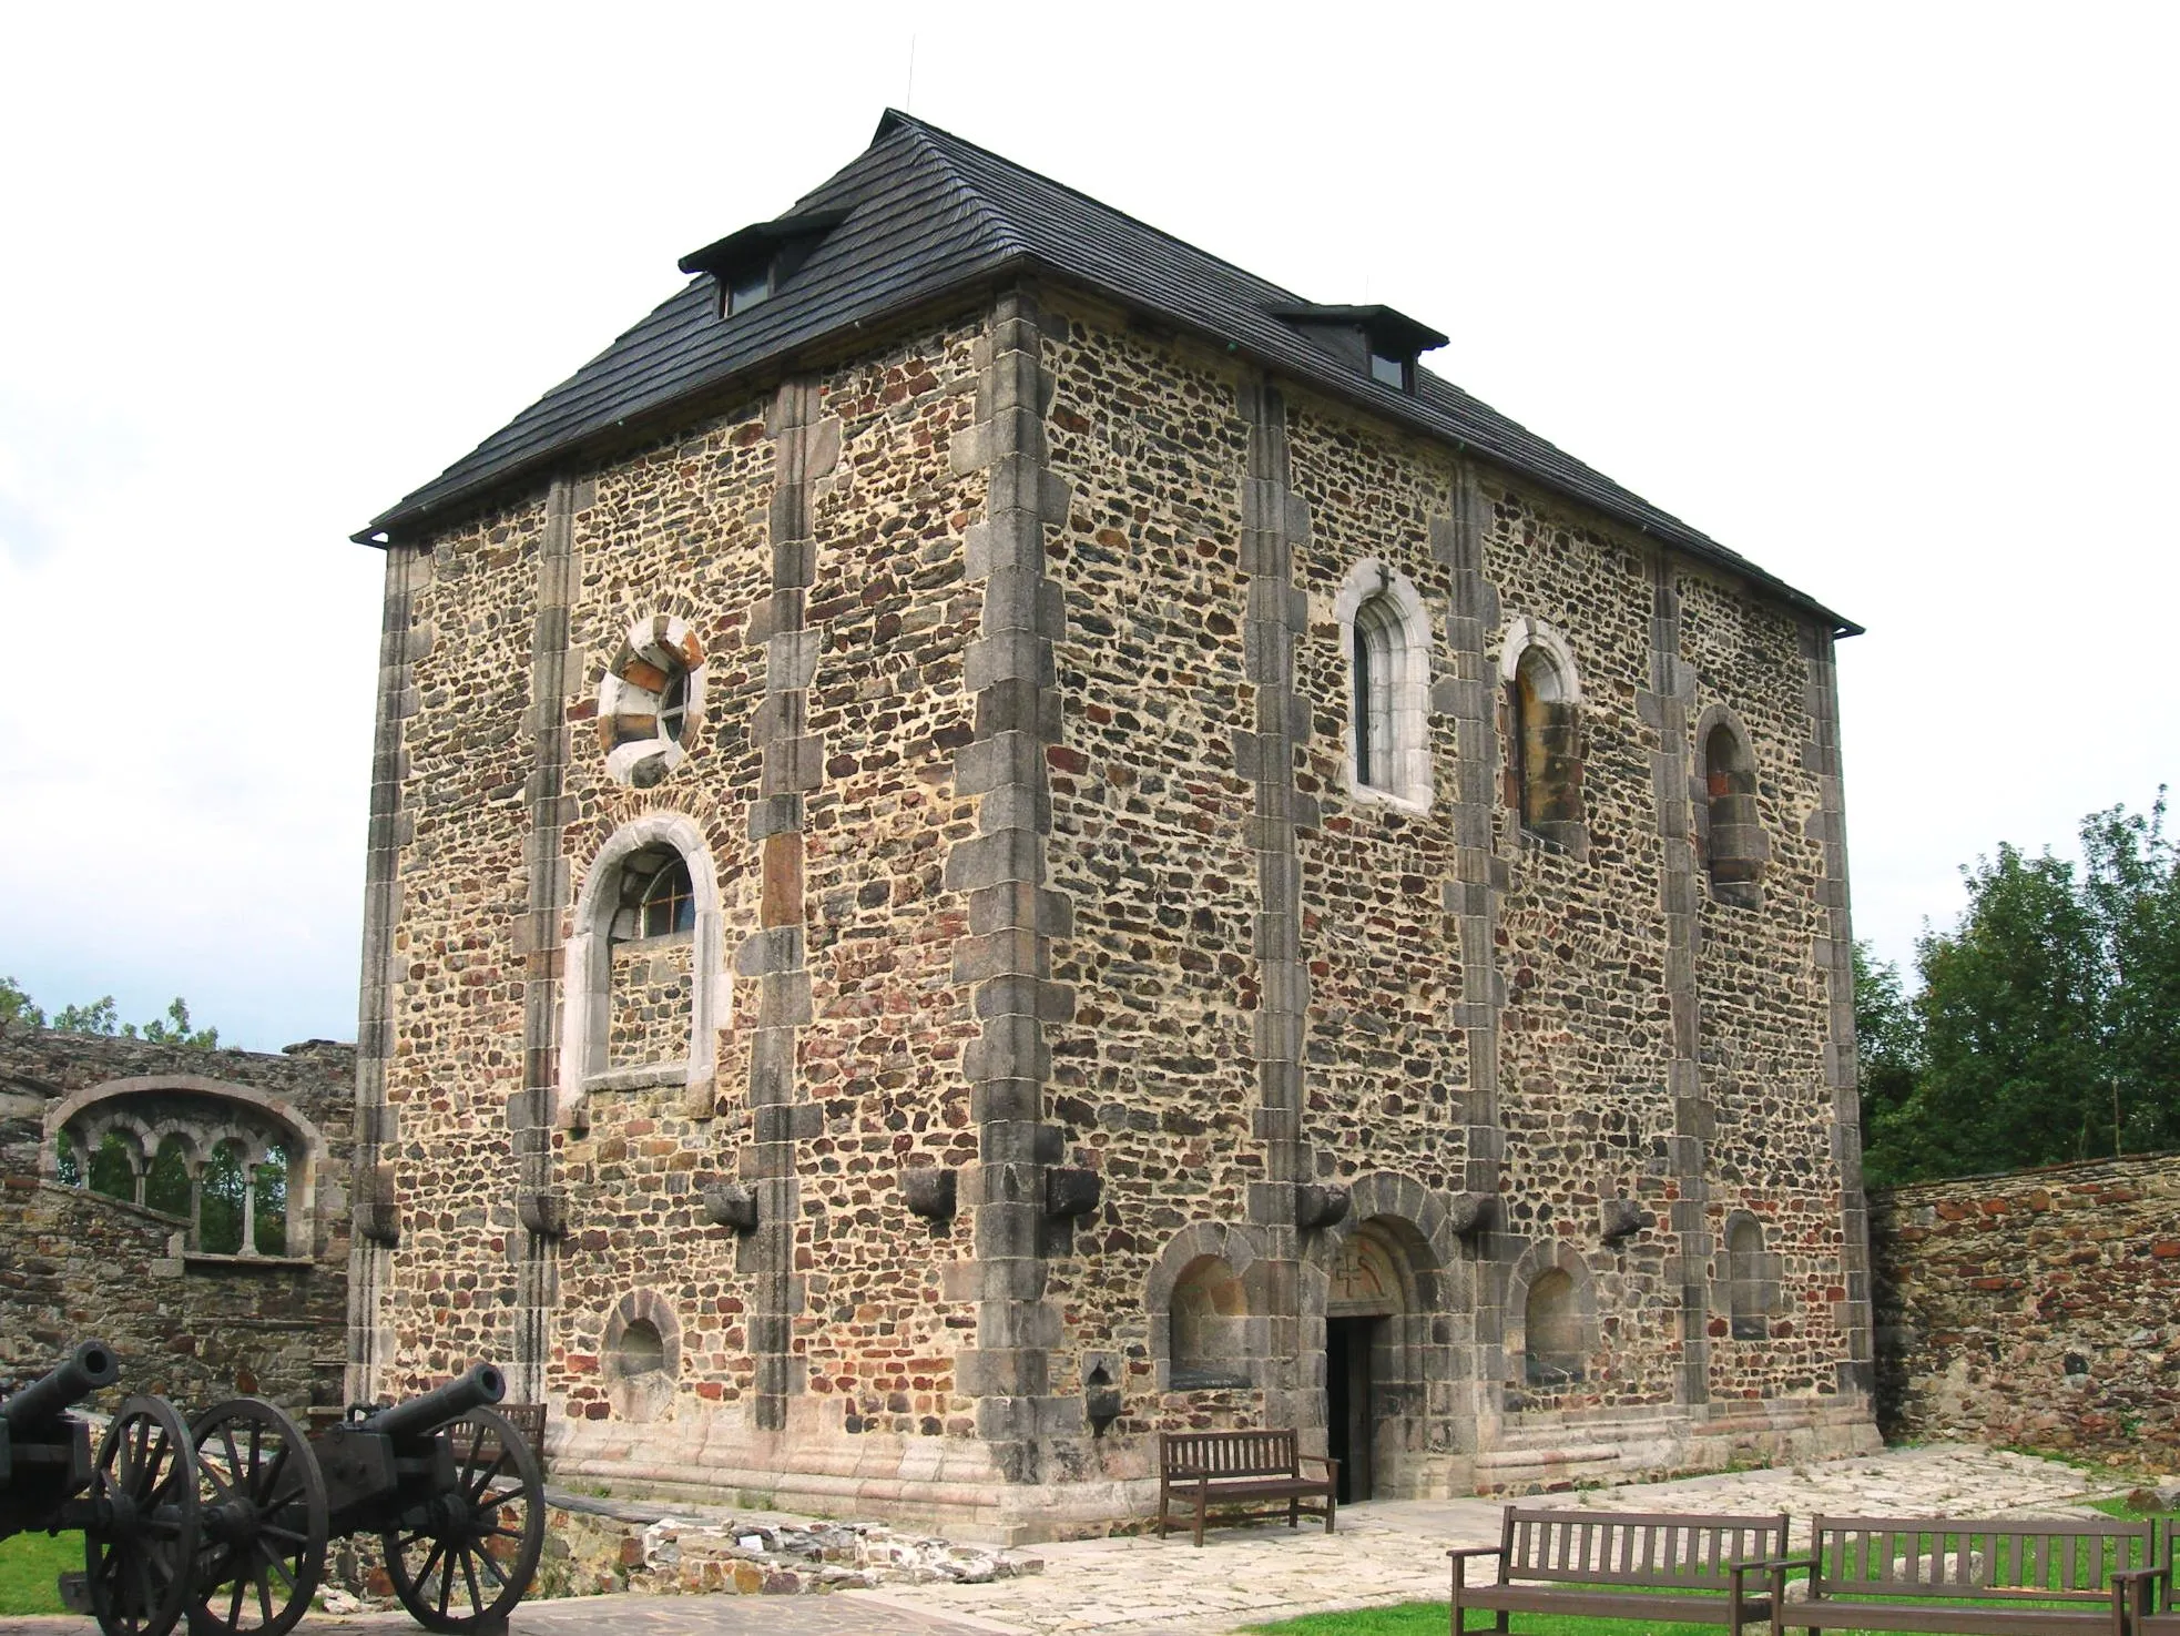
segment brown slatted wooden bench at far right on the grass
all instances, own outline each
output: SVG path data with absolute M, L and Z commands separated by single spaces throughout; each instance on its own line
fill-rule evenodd
M 1818 1516 L 1809 1529 L 1807 1555 L 1772 1564 L 1772 1636 L 1788 1629 L 2130 1636 L 2128 1601 L 2158 1577 L 2154 1523 Z M 1788 1601 L 1794 1571 L 1809 1575 L 1803 1601 Z M 2180 1632 L 2180 1623 L 2169 1629 Z

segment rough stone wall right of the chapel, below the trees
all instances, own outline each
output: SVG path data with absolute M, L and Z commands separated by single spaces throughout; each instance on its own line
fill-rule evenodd
M 1870 1195 L 1888 1437 L 2180 1451 L 2180 1156 Z

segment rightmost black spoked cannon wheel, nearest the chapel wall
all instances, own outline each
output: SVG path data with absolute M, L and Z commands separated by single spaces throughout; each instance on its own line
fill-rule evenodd
M 530 1590 L 545 1549 L 545 1470 L 504 1414 L 471 1409 L 434 1433 L 456 1485 L 386 1529 L 386 1575 L 425 1629 L 497 1627 Z

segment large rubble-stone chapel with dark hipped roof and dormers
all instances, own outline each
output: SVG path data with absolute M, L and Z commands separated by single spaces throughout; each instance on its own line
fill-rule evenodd
M 1873 1446 L 1833 643 L 903 113 L 384 513 L 351 1381 L 1097 1529 Z

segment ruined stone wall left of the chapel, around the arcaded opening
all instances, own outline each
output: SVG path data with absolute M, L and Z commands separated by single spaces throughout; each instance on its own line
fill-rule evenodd
M 312 1246 L 279 1259 L 181 1252 L 185 1217 L 52 1180 L 46 1112 L 116 1080 L 249 1086 L 316 1126 L 327 1154 L 303 1217 Z M 290 1409 L 338 1405 L 351 1110 L 347 1045 L 266 1056 L 0 1032 L 0 1381 L 41 1374 L 96 1337 L 122 1361 L 96 1407 L 157 1392 L 194 1411 L 238 1390 Z

